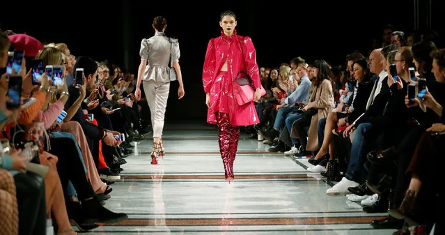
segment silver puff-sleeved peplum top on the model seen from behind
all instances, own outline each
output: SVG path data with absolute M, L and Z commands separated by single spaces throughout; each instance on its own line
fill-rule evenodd
M 166 37 L 163 32 L 157 32 L 151 38 L 142 39 L 139 55 L 141 60 L 147 61 L 143 81 L 170 82 L 170 56 L 173 62 L 179 61 L 180 57 L 178 40 Z

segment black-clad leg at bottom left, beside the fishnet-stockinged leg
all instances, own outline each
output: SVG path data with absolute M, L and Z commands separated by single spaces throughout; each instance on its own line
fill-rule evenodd
M 46 234 L 47 205 L 42 177 L 26 172 L 15 174 L 14 180 L 19 210 L 19 234 Z

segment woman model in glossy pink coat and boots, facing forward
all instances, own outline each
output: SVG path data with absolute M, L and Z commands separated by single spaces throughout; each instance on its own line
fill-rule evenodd
M 233 161 L 240 139 L 239 126 L 259 123 L 253 102 L 237 105 L 232 82 L 240 71 L 246 72 L 260 99 L 260 75 L 255 47 L 251 38 L 236 34 L 236 16 L 230 11 L 221 14 L 221 36 L 210 39 L 205 53 L 203 85 L 208 106 L 207 122 L 217 124 L 219 150 L 224 163 L 226 180 L 233 180 Z

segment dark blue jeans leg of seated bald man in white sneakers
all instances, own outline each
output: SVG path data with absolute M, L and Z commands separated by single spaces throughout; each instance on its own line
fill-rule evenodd
M 351 155 L 348 164 L 348 170 L 346 171 L 345 177 L 350 181 L 355 181 L 360 183 L 361 174 L 364 171 L 364 162 L 362 156 L 366 144 L 365 134 L 366 131 L 372 128 L 371 123 L 361 123 L 357 126 L 355 130 L 354 141 L 351 146 Z

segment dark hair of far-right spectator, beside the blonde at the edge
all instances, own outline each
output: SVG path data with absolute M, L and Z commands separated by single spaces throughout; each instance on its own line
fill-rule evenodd
M 432 69 L 432 58 L 430 53 L 437 47 L 430 41 L 423 41 L 412 45 L 411 50 L 414 59 L 419 63 L 421 68 L 417 68 L 422 73 L 428 73 Z

